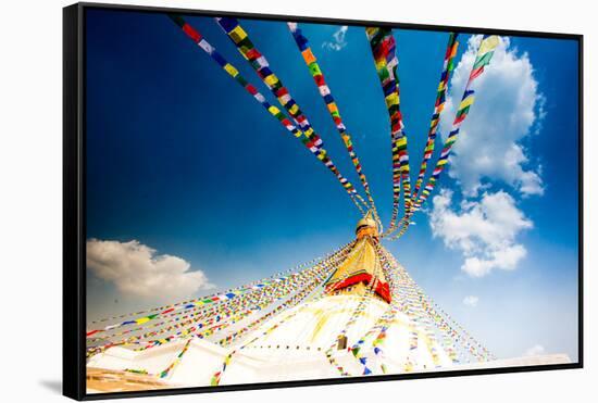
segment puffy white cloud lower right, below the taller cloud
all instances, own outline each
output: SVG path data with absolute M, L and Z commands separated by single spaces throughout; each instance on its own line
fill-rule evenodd
M 525 257 L 525 247 L 516 236 L 533 223 L 502 190 L 485 192 L 479 201 L 464 200 L 453 210 L 452 191 L 443 189 L 433 198 L 429 225 L 433 236 L 463 254 L 461 269 L 472 277 L 483 277 L 493 269 L 512 270 Z

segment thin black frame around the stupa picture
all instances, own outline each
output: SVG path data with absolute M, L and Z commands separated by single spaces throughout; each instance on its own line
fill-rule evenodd
M 443 370 L 403 375 L 346 377 L 298 381 L 263 382 L 219 387 L 177 388 L 135 392 L 86 393 L 86 104 L 85 104 L 85 15 L 90 9 L 137 13 L 179 13 L 197 16 L 234 16 L 261 21 L 297 21 L 304 23 L 353 26 L 387 26 L 401 29 L 451 30 L 463 34 L 497 34 L 521 37 L 560 38 L 578 43 L 578 361 L 570 364 L 534 365 L 503 368 Z M 158 7 L 76 3 L 63 9 L 63 394 L 75 400 L 117 399 L 149 395 L 223 392 L 250 389 L 289 388 L 320 385 L 372 382 L 415 378 L 456 377 L 465 375 L 506 374 L 574 369 L 584 366 L 584 287 L 583 287 L 583 35 L 477 27 L 422 25 L 327 17 L 271 15 Z

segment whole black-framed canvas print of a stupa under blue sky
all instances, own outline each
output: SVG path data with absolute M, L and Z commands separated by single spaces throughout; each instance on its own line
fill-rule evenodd
M 64 393 L 582 367 L 581 61 L 580 35 L 65 8 Z

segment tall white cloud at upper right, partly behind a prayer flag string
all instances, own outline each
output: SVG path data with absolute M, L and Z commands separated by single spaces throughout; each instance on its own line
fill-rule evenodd
M 472 37 L 454 70 L 450 95 L 440 121 L 448 136 L 456 108 L 469 78 L 479 36 Z M 544 193 L 540 169 L 533 168 L 522 140 L 541 128 L 545 97 L 538 92 L 534 68 L 526 53 L 518 54 L 509 38 L 500 38 L 490 65 L 474 83 L 476 101 L 461 126 L 450 159 L 449 175 L 465 196 L 477 196 L 488 180 L 500 180 L 522 196 Z M 486 181 L 485 181 L 486 180 Z

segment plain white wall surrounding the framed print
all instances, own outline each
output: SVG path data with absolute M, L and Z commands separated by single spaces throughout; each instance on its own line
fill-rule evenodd
M 590 1 L 176 0 L 134 4 L 378 20 L 585 35 L 586 368 L 447 379 L 140 399 L 155 402 L 285 403 L 589 401 L 598 379 L 594 273 L 597 23 Z M 0 24 L 0 396 L 65 401 L 61 382 L 62 7 L 64 0 L 7 1 Z M 555 63 L 559 63 L 558 60 Z M 593 317 L 594 315 L 594 317 Z M 595 399 L 595 398 L 594 398 Z

